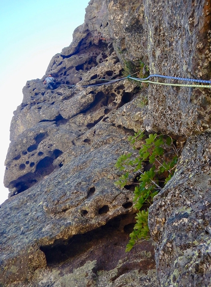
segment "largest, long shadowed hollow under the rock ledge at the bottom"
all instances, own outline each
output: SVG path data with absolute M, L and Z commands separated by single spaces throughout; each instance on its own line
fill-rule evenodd
M 82 259 L 81 261 L 81 258 L 82 254 L 86 254 L 86 261 L 96 260 L 96 265 L 92 270 L 94 273 L 97 273 L 98 270 L 113 270 L 118 266 L 120 260 L 124 262 L 123 268 L 121 267 L 121 273 L 118 273 L 118 275 L 115 274 L 115 276 L 120 277 L 121 274 L 124 274 L 126 272 L 126 267 L 128 268 L 127 272 L 134 269 L 139 270 L 140 260 L 136 260 L 137 252 L 139 252 L 140 249 L 147 251 L 148 249 L 146 249 L 145 246 L 142 247 L 142 245 L 135 246 L 132 249 L 131 254 L 134 256 L 132 258 L 134 258 L 137 263 L 134 265 L 127 262 L 128 255 L 125 253 L 125 246 L 130 237 L 129 234 L 122 232 L 126 225 L 124 224 L 125 220 L 127 220 L 126 217 L 123 218 L 118 216 L 109 220 L 106 225 L 93 231 L 73 235 L 73 237 L 69 239 L 57 239 L 51 245 L 40 246 L 40 250 L 46 256 L 47 266 L 51 268 L 66 261 L 69 264 L 69 272 L 71 273 L 75 268 L 83 266 L 84 260 Z M 128 218 L 128 223 L 129 220 L 130 219 Z M 122 226 L 121 231 L 119 230 L 120 225 Z M 93 246 L 95 246 L 95 248 L 93 248 Z M 153 247 L 150 246 L 147 246 L 147 248 L 154 250 Z M 126 263 L 128 264 L 127 266 L 125 266 Z M 143 264 L 145 265 L 145 262 Z M 149 264 L 149 260 L 146 261 L 146 264 Z M 152 264 L 155 265 L 154 261 L 152 261 Z

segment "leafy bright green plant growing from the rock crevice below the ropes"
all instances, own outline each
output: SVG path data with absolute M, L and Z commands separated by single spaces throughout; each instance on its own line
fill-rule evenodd
M 138 212 L 126 251 L 130 251 L 137 240 L 150 237 L 148 227 L 149 206 L 153 203 L 154 196 L 173 176 L 178 160 L 178 152 L 170 136 L 155 133 L 149 134 L 146 138 L 144 131 L 140 131 L 129 137 L 129 140 L 134 149 L 140 142 L 142 143 L 138 156 L 132 157 L 133 153 L 122 155 L 115 164 L 120 171 L 130 170 L 115 182 L 116 185 L 120 185 L 122 188 L 129 184 L 131 172 L 139 174 L 136 178 L 138 182 L 133 183 L 135 185 L 134 208 Z M 167 152 L 169 156 L 164 157 Z

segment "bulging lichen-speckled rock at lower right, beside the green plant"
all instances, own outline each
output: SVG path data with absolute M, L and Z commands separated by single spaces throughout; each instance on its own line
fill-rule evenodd
M 210 286 L 210 204 L 211 135 L 206 133 L 188 139 L 174 177 L 150 210 L 160 286 Z

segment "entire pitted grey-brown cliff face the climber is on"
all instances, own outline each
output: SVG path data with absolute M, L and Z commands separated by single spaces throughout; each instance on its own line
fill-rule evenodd
M 43 85 L 46 75 L 27 81 L 14 112 L 0 286 L 211 285 L 210 89 L 125 78 L 149 69 L 210 79 L 210 27 L 210 1 L 89 2 L 73 42 L 47 68 L 58 88 Z M 150 242 L 125 253 L 136 210 L 132 186 L 114 184 L 115 162 L 140 129 L 187 139 L 150 208 L 155 259 Z

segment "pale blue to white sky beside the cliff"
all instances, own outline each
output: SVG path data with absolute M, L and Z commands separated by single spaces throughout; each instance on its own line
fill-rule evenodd
M 88 2 L 0 0 L 0 204 L 8 197 L 3 186 L 4 160 L 22 88 L 27 80 L 42 78 L 53 55 L 70 45 L 74 29 L 84 22 Z

